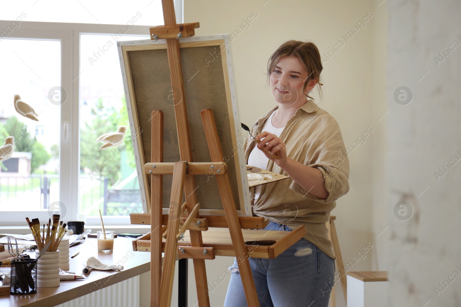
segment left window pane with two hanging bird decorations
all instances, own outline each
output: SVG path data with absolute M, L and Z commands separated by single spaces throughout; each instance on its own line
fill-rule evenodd
M 0 44 L 0 210 L 47 209 L 59 201 L 61 43 Z

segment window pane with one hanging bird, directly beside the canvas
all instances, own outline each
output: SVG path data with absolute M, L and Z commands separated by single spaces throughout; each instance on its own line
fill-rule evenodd
M 142 36 L 80 36 L 79 213 L 142 212 L 116 41 Z M 109 133 L 109 134 L 107 134 Z

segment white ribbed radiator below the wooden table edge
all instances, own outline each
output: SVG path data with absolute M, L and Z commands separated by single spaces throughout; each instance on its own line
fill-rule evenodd
M 78 280 L 75 283 L 78 283 Z M 138 291 L 139 276 L 135 276 L 60 304 L 58 307 L 136 307 L 139 306 Z

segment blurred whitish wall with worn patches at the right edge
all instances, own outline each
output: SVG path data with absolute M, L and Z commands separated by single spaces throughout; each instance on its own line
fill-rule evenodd
M 461 3 L 395 0 L 387 6 L 389 306 L 460 306 L 460 162 L 439 180 L 434 173 L 442 175 L 438 168 L 461 158 L 461 47 L 446 59 L 438 54 L 453 41 L 461 44 Z M 443 62 L 437 65 L 436 57 Z M 414 94 L 408 105 L 394 101 L 400 86 Z M 408 220 L 392 213 L 401 201 L 414 210 Z

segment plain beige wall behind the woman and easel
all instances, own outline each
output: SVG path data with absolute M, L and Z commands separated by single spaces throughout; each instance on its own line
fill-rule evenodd
M 384 211 L 380 208 L 384 207 L 381 204 L 387 201 L 387 196 L 373 180 L 384 189 L 382 159 L 385 156 L 380 152 L 385 148 L 385 121 L 378 120 L 386 111 L 384 91 L 387 81 L 381 75 L 385 75 L 386 6 L 378 7 L 380 1 L 370 0 L 352 3 L 270 0 L 265 3 L 266 0 L 185 0 L 184 22 L 200 22 L 196 35 L 221 34 L 236 30 L 252 12 L 258 14 L 250 27 L 231 43 L 240 117 L 247 124 L 253 123 L 276 104 L 266 87 L 265 71 L 269 56 L 281 43 L 290 39 L 313 41 L 323 54 L 339 40 L 343 41 L 344 46 L 324 63 L 324 96 L 320 100 L 314 93 L 315 102 L 336 118 L 346 147 L 352 145 L 367 127 L 372 127 L 373 132 L 350 154 L 350 191 L 337 201 L 337 208 L 332 214 L 337 216 L 337 232 L 345 262 L 352 261 L 368 242 L 373 243 L 373 248 L 352 270 L 385 269 L 377 264 L 377 260 L 385 258 L 385 250 L 381 247 L 383 236 L 377 236 L 378 231 L 385 228 L 385 222 L 380 217 Z M 342 35 L 353 29 L 367 12 L 373 16 L 365 23 L 365 28 L 355 33 L 350 41 L 345 41 Z M 376 225 L 372 226 L 372 223 Z M 382 250 L 380 254 L 383 256 L 375 254 L 378 250 Z M 208 261 L 209 281 L 221 275 L 230 262 L 230 257 Z M 192 261 L 189 261 L 189 266 L 192 267 Z M 189 304 L 194 306 L 193 271 L 190 270 L 189 274 Z M 148 278 L 144 280 L 146 283 L 142 284 L 148 293 Z M 229 278 L 226 278 L 210 295 L 212 306 L 223 305 L 228 283 Z M 345 306 L 340 289 L 338 287 L 336 291 L 338 307 Z

